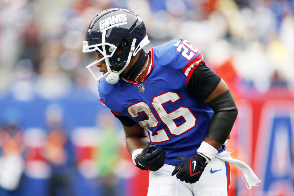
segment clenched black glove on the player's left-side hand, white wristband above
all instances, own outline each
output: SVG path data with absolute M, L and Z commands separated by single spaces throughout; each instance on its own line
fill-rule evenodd
M 151 151 L 156 147 L 156 144 L 147 146 L 140 155 L 136 156 L 136 166 L 142 170 L 157 171 L 164 165 L 165 152 L 159 147 L 155 151 Z

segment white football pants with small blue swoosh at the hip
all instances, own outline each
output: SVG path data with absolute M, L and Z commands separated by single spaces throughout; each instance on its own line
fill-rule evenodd
M 193 184 L 171 176 L 174 168 L 164 164 L 159 170 L 150 171 L 147 196 L 228 196 L 231 176 L 228 162 L 213 158 Z

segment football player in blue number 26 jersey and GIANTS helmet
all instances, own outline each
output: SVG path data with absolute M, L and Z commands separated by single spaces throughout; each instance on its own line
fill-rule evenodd
M 226 83 L 189 40 L 144 51 L 148 43 L 141 18 L 120 8 L 94 17 L 83 41 L 83 52 L 98 54 L 87 69 L 100 101 L 121 121 L 134 164 L 150 170 L 148 195 L 228 195 L 229 163 L 256 186 L 251 168 L 225 151 L 238 114 Z

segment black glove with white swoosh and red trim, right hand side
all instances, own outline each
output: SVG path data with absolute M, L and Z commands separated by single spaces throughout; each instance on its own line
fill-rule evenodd
M 208 161 L 200 155 L 196 154 L 193 158 L 182 161 L 178 164 L 171 175 L 177 174 L 177 178 L 186 183 L 195 183 L 199 180 Z

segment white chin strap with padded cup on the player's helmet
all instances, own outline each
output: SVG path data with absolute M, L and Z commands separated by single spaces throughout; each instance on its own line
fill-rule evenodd
M 114 71 L 114 70 L 111 70 L 109 68 L 109 74 L 107 74 L 105 76 L 105 79 L 106 79 L 106 81 L 108 83 L 115 84 L 115 83 L 117 83 L 119 81 L 119 74 L 121 74 L 123 72 L 123 70 L 125 70 L 126 67 L 130 63 L 130 60 L 132 58 L 132 54 L 135 51 L 135 43 L 136 43 L 136 39 L 133 39 L 133 42 L 132 42 L 132 45 L 131 45 L 131 49 L 130 49 L 130 52 L 129 52 L 129 56 L 128 56 L 128 60 L 126 61 L 126 65 L 123 67 L 123 69 L 121 69 L 119 71 Z M 108 62 L 108 64 L 110 64 L 108 59 L 105 59 L 105 60 Z M 107 67 L 107 69 L 108 69 L 108 67 Z

